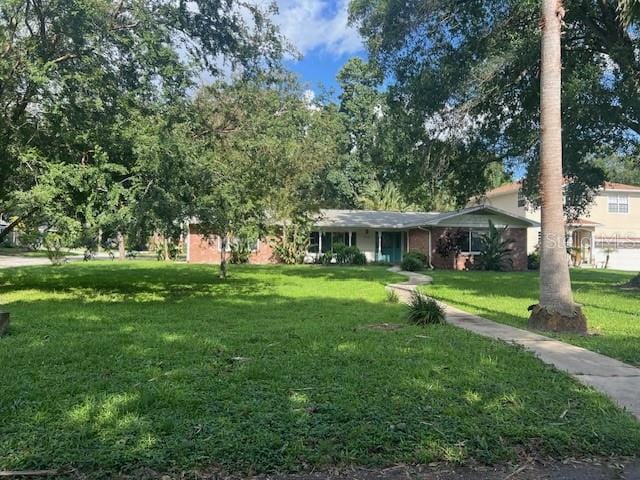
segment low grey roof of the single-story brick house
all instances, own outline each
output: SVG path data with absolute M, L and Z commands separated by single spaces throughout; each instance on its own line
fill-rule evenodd
M 375 210 L 320 210 L 314 223 L 318 228 L 390 228 L 405 229 L 441 225 L 456 217 L 469 214 L 494 214 L 511 218 L 530 227 L 539 223 L 505 210 L 490 206 L 477 205 L 454 212 L 384 212 Z

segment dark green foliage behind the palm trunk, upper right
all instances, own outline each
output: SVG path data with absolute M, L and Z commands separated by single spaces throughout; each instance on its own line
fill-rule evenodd
M 594 152 L 606 145 L 637 158 L 640 151 L 639 19 L 636 12 L 617 20 L 618 5 L 630 12 L 633 3 L 564 2 L 564 174 L 572 216 L 603 180 L 590 161 Z M 352 0 L 350 14 L 383 72 L 395 150 L 408 152 L 393 160 L 406 185 L 425 176 L 450 181 L 447 190 L 463 203 L 489 187 L 490 165 L 504 163 L 527 168 L 525 189 L 535 197 L 539 1 Z

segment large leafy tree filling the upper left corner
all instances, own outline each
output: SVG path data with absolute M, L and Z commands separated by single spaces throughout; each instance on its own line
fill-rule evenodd
M 0 210 L 46 221 L 41 176 L 100 168 L 98 151 L 132 167 L 121 135 L 132 112 L 184 97 L 221 61 L 243 72 L 277 63 L 284 46 L 271 13 L 226 0 L 1 2 Z

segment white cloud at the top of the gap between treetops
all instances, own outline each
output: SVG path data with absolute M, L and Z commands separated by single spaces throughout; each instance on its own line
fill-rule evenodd
M 348 0 L 277 0 L 275 18 L 282 33 L 300 51 L 333 56 L 362 51 L 362 39 L 348 25 Z

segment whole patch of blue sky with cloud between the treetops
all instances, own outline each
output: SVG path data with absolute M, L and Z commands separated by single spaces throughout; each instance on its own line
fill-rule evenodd
M 277 0 L 275 22 L 303 55 L 287 66 L 308 88 L 337 90 L 336 74 L 353 56 L 365 56 L 362 39 L 348 25 L 348 0 Z M 338 93 L 338 92 L 336 92 Z

